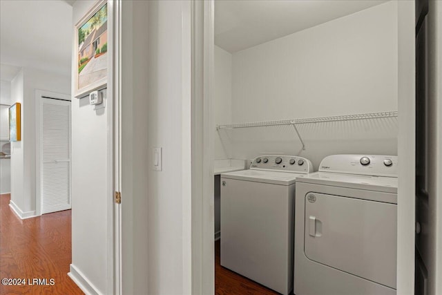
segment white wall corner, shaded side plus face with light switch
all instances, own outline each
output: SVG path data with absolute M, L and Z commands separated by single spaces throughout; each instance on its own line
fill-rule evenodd
M 183 91 L 189 7 L 190 1 L 123 1 L 123 294 L 190 294 L 184 179 L 191 166 L 183 164 L 191 156 L 184 123 L 190 95 Z M 155 146 L 162 147 L 162 171 L 153 170 Z

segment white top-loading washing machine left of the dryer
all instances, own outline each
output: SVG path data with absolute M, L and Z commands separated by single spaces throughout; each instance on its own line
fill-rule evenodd
M 311 162 L 255 158 L 249 170 L 221 174 L 221 265 L 282 294 L 293 289 L 295 180 Z

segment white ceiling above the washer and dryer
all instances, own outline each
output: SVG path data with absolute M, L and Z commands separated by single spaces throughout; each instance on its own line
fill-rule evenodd
M 386 0 L 215 0 L 215 44 L 230 53 Z

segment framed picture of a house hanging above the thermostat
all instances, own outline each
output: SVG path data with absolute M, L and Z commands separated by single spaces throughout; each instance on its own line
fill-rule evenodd
M 107 1 L 98 1 L 75 26 L 75 53 L 75 97 L 81 98 L 107 83 Z

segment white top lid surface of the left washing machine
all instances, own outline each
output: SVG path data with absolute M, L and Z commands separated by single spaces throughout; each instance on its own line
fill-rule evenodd
M 222 173 L 221 178 L 262 182 L 269 184 L 290 185 L 294 184 L 296 178 L 300 175 L 302 174 L 262 170 L 243 170 L 230 173 Z

